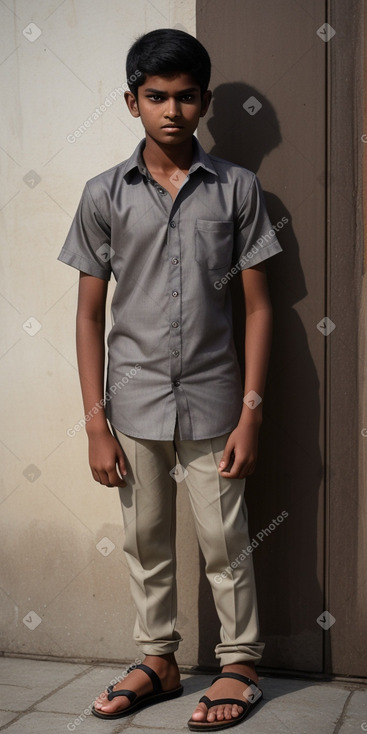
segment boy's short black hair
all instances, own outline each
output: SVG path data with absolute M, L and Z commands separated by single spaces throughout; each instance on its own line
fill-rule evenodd
M 208 89 L 210 57 L 204 46 L 189 33 L 177 28 L 159 28 L 139 36 L 126 58 L 126 80 L 134 97 L 147 76 L 175 72 L 191 74 L 201 94 Z

